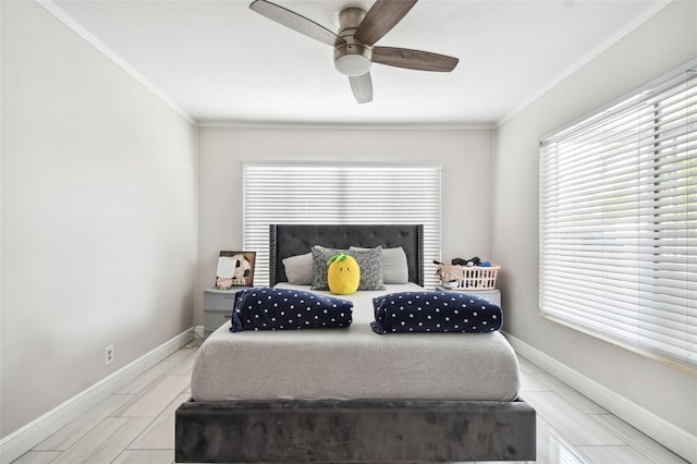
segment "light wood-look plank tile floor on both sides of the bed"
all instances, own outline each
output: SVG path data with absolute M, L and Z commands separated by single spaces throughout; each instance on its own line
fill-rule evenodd
M 150 368 L 13 464 L 171 464 L 174 410 L 188 399 L 196 341 Z M 683 461 L 530 362 L 522 396 L 537 411 L 537 463 Z

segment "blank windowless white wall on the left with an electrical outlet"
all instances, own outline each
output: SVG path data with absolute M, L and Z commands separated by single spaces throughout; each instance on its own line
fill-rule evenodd
M 4 437 L 192 327 L 197 184 L 193 124 L 39 4 L 0 8 Z

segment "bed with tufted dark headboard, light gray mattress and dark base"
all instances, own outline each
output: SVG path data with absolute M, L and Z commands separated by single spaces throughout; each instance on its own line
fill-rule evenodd
M 192 399 L 175 414 L 176 462 L 535 459 L 535 411 L 517 396 L 517 362 L 500 332 L 370 327 L 374 297 L 423 290 L 420 225 L 272 224 L 269 236 L 279 291 L 305 290 L 289 283 L 283 261 L 315 245 L 402 248 L 406 282 L 351 295 L 347 328 L 220 327 L 200 346 Z

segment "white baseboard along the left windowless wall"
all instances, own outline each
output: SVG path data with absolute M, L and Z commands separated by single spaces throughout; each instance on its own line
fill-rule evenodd
M 191 341 L 194 328 L 162 343 L 129 365 L 101 379 L 91 387 L 59 404 L 48 413 L 37 417 L 19 430 L 0 440 L 0 463 L 9 464 L 36 447 L 71 420 L 87 412 L 90 407 L 117 392 L 160 361 Z

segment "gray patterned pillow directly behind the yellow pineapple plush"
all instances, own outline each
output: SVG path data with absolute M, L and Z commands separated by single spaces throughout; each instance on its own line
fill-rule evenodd
M 358 290 L 384 290 L 382 283 L 382 247 L 371 248 L 364 252 L 357 249 L 337 249 L 325 246 L 313 246 L 313 290 L 329 290 L 327 283 L 327 271 L 329 266 L 327 260 L 337 253 L 345 253 L 353 256 L 358 261 L 360 268 L 360 283 Z

